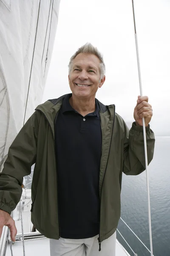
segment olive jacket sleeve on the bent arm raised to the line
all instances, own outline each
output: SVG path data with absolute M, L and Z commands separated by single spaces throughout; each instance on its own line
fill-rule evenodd
M 144 138 L 143 127 L 136 126 L 135 122 L 128 131 L 124 122 L 125 139 L 124 139 L 124 163 L 123 172 L 126 175 L 139 175 L 146 169 L 144 157 Z M 153 159 L 155 137 L 150 125 L 145 128 L 147 140 L 147 160 L 148 165 Z

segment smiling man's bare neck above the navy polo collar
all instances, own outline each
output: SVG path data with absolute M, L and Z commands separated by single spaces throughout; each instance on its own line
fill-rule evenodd
M 95 97 L 90 99 L 78 99 L 74 95 L 69 99 L 70 105 L 82 116 L 93 113 L 96 109 Z

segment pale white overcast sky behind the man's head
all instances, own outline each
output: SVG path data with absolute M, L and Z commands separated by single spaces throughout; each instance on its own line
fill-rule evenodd
M 170 0 L 134 0 L 143 95 L 156 135 L 170 136 Z M 42 102 L 70 93 L 68 62 L 86 42 L 103 54 L 106 81 L 96 98 L 129 124 L 140 95 L 131 0 L 61 0 Z

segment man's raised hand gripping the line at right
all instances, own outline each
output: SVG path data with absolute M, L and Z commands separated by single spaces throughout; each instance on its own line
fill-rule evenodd
M 133 113 L 136 125 L 142 126 L 142 117 L 144 117 L 145 126 L 148 126 L 152 116 L 152 106 L 148 103 L 147 96 L 138 96 L 137 104 Z

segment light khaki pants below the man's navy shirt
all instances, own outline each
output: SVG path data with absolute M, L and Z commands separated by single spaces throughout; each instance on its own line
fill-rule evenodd
M 99 252 L 99 236 L 87 239 L 50 239 L 51 256 L 115 256 L 116 232 L 101 243 Z

